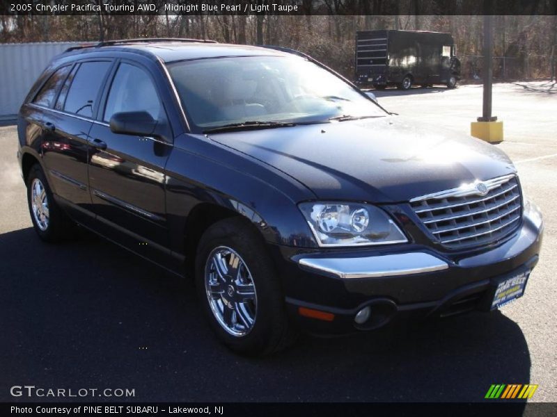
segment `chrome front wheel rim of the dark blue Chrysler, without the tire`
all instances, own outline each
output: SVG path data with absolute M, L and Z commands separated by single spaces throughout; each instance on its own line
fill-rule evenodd
M 256 322 L 256 285 L 235 250 L 216 247 L 205 263 L 205 293 L 219 325 L 233 336 L 245 336 Z

